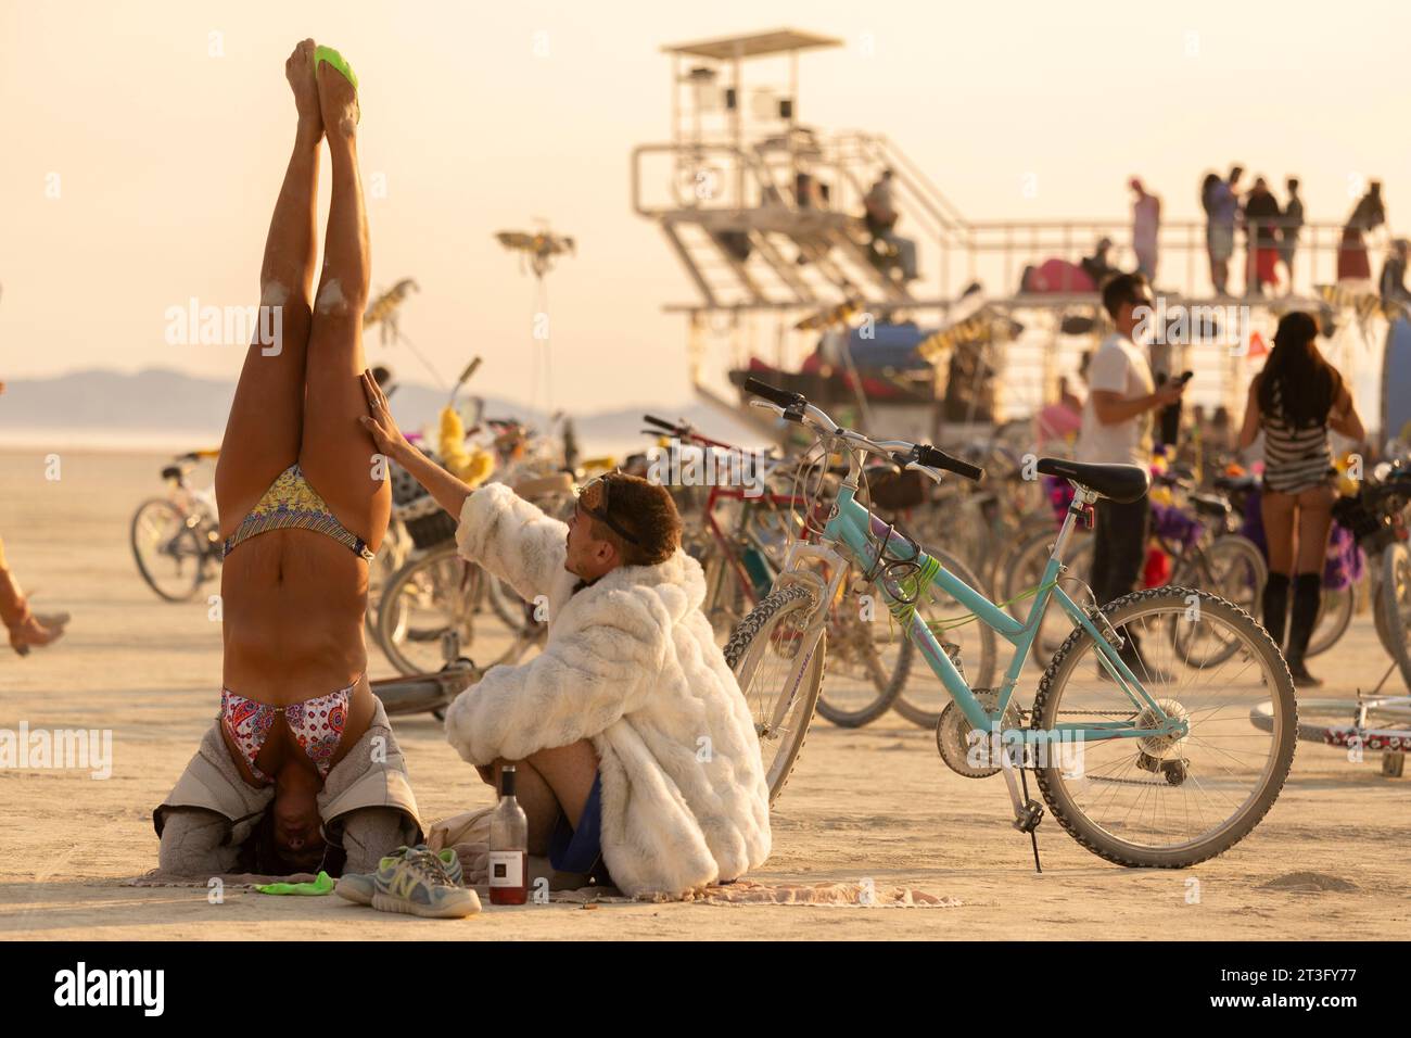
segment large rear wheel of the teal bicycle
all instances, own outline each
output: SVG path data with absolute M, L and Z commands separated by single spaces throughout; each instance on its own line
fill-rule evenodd
M 1040 761 L 1044 801 L 1078 843 L 1118 864 L 1181 869 L 1215 857 L 1259 825 L 1288 778 L 1298 732 L 1288 667 L 1249 613 L 1208 592 L 1153 587 L 1102 612 L 1119 636 L 1136 638 L 1133 672 L 1167 716 L 1187 722 L 1187 734 L 1079 743 L 1078 767 Z M 1173 616 L 1219 628 L 1195 641 L 1235 640 L 1236 652 L 1213 667 L 1187 665 L 1167 636 Z M 1062 644 L 1038 682 L 1034 727 L 1082 720 L 1141 727 L 1151 716 L 1099 678 L 1095 654 L 1082 628 Z M 1249 715 L 1264 700 L 1270 729 L 1260 732 Z

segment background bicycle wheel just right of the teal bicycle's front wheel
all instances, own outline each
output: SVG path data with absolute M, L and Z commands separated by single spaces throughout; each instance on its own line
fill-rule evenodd
M 851 573 L 842 586 L 851 587 Z M 880 717 L 906 685 L 910 648 L 880 595 L 845 592 L 828 610 L 828 692 L 818 695 L 818 713 L 849 729 Z

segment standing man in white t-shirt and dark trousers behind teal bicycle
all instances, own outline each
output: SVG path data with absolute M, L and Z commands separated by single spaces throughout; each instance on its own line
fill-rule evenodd
M 1119 274 L 1102 290 L 1102 305 L 1116 332 L 1088 362 L 1088 401 L 1082 405 L 1078 460 L 1151 465 L 1151 412 L 1181 398 L 1182 383 L 1156 386 L 1151 366 L 1132 340 L 1153 309 L 1140 274 Z M 1092 544 L 1092 593 L 1099 606 L 1130 593 L 1141 576 L 1151 527 L 1151 501 L 1101 499 Z

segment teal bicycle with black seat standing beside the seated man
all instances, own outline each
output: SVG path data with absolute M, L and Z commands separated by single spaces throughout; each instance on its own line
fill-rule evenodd
M 950 693 L 935 726 L 941 758 L 967 778 L 1003 774 L 1020 832 L 1033 836 L 1044 813 L 1029 797 L 1029 772 L 1074 839 L 1125 866 L 1191 866 L 1223 853 L 1259 825 L 1288 777 L 1298 734 L 1294 684 L 1264 628 L 1232 602 L 1198 589 L 1154 587 L 1098 609 L 1091 592 L 1079 603 L 1058 586 L 1060 578 L 1072 586 L 1062 552 L 1074 527 L 1091 521 L 1099 497 L 1139 500 L 1150 482 L 1146 469 L 1038 460 L 1040 473 L 1068 479 L 1075 496 L 1043 576 L 1029 592 L 1029 614 L 1016 619 L 855 500 L 866 455 L 935 482 L 943 472 L 979 480 L 983 470 L 926 443 L 876 441 L 841 428 L 803 395 L 755 378 L 745 388 L 762 398 L 751 405 L 809 426 L 823 458 L 848 459 L 831 506 L 823 513 L 809 508 L 827 515 L 825 524 L 789 547 L 773 589 L 725 647 L 755 719 L 770 804 L 799 761 L 823 686 L 827 606 L 851 571 L 865 585 L 852 590 L 878 592 Z M 933 587 L 937 597 L 971 612 L 931 619 Z M 1026 708 L 1016 686 L 1054 602 L 1074 630 Z M 996 688 L 971 688 L 964 661 L 957 665 L 938 637 L 961 623 L 985 624 L 1013 645 Z M 1194 624 L 1192 637 L 1173 638 L 1173 624 Z M 1235 650 L 1219 660 L 1188 655 L 1189 645 L 1206 638 Z M 1256 708 L 1264 724 L 1252 729 Z

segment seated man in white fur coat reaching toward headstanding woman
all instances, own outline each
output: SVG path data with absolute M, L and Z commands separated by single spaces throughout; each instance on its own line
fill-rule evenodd
M 769 791 L 749 708 L 701 613 L 670 494 L 612 473 L 569 524 L 504 484 L 471 493 L 396 429 L 364 376 L 378 449 L 453 515 L 460 554 L 547 599 L 543 652 L 492 667 L 446 713 L 487 782 L 516 765 L 529 853 L 631 895 L 682 897 L 769 857 Z

